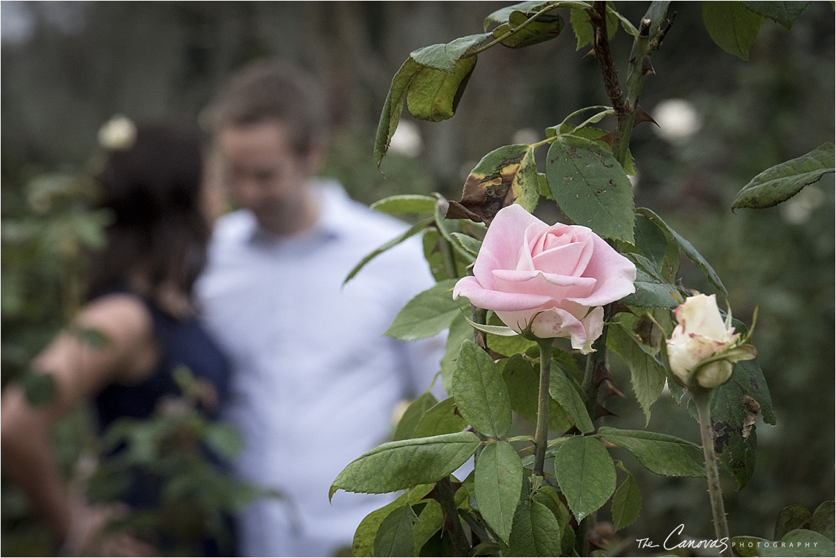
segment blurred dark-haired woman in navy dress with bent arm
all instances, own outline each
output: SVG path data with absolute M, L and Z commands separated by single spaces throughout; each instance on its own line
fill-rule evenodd
M 123 118 L 111 120 L 100 141 L 108 152 L 97 176 L 99 205 L 114 216 L 107 246 L 90 258 L 88 301 L 74 323 L 33 362 L 53 376 L 54 400 L 34 408 L 17 386 L 3 393 L 3 465 L 65 550 L 153 555 L 151 545 L 124 532 L 99 537 L 118 514 L 70 493 L 48 434 L 85 400 L 94 402 L 101 430 L 118 418 L 149 417 L 161 399 L 179 394 L 173 372 L 181 366 L 204 386 L 202 410 L 211 417 L 225 396 L 227 361 L 191 304 L 209 236 L 201 135 L 191 124 L 135 125 Z M 85 341 L 79 335 L 85 330 L 99 332 L 102 346 Z M 135 493 L 128 500 L 141 500 Z M 94 540 L 105 543 L 92 548 Z

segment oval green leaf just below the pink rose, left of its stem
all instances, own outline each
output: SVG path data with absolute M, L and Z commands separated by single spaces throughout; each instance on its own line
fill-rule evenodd
M 456 406 L 478 432 L 494 438 L 511 429 L 511 400 L 493 359 L 476 343 L 461 343 L 451 391 Z

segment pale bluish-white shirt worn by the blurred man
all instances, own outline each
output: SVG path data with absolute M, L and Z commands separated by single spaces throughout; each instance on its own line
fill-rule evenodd
M 350 200 L 339 185 L 315 186 L 319 222 L 273 236 L 252 213 L 216 226 L 197 285 L 206 326 L 232 360 L 226 416 L 244 438 L 237 472 L 283 499 L 258 500 L 238 521 L 243 555 L 331 555 L 385 497 L 334 495 L 351 460 L 384 442 L 392 410 L 428 388 L 443 342 L 397 342 L 383 332 L 433 281 L 417 238 L 351 268 L 405 230 Z M 434 392 L 439 394 L 441 378 Z

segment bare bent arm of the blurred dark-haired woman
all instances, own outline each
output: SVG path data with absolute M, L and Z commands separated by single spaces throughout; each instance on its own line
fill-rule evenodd
M 106 339 L 93 347 L 79 335 L 95 329 Z M 111 295 L 91 302 L 74 327 L 58 337 L 33 362 L 52 374 L 57 393 L 43 408 L 31 406 L 17 385 L 3 392 L 0 440 L 3 467 L 62 540 L 85 508 L 80 495 L 70 495 L 55 463 L 50 426 L 78 403 L 94 397 L 109 383 L 130 382 L 150 373 L 159 358 L 150 313 L 130 295 Z

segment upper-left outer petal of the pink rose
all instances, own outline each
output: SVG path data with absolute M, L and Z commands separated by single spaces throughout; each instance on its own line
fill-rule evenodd
M 517 204 L 508 205 L 497 212 L 487 229 L 476 264 L 473 266 L 473 275 L 484 287 L 493 287 L 491 271 L 517 269 L 529 226 L 535 230 L 548 227 Z

